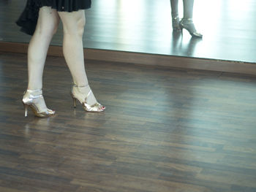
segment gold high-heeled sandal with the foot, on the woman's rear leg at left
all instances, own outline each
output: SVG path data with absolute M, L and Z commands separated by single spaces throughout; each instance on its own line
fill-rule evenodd
M 28 116 L 28 108 L 30 107 L 31 110 L 34 112 L 39 118 L 48 118 L 55 114 L 55 111 L 49 110 L 45 105 L 45 100 L 42 96 L 42 89 L 38 90 L 26 90 L 23 99 L 22 99 L 24 110 L 25 110 L 25 117 Z

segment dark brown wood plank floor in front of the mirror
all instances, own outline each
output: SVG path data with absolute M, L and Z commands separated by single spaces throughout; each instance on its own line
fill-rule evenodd
M 53 118 L 23 117 L 26 55 L 0 54 L 0 191 L 256 191 L 256 78 L 87 61 L 107 110 L 72 108 L 64 58 L 48 57 Z

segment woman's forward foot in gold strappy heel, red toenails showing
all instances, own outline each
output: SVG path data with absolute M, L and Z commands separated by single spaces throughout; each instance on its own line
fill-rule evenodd
M 94 93 L 92 93 L 89 85 L 78 86 L 73 84 L 71 88 L 71 96 L 73 99 L 74 107 L 76 107 L 76 100 L 78 100 L 82 104 L 83 109 L 87 112 L 102 112 L 106 109 L 105 106 L 99 104 L 97 101 L 93 104 L 89 104 L 89 100 L 95 100 Z

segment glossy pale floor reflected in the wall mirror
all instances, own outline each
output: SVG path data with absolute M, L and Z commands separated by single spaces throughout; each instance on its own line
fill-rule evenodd
M 29 42 L 15 20 L 26 0 L 0 1 L 0 39 Z M 182 17 L 182 1 L 179 1 Z M 173 33 L 169 0 L 93 0 L 86 10 L 84 47 L 136 53 L 256 62 L 256 1 L 195 0 L 194 22 L 203 39 Z M 61 45 L 62 29 L 53 38 Z

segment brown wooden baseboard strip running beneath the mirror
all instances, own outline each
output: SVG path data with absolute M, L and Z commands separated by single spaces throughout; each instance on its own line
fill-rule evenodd
M 10 53 L 27 53 L 27 43 L 1 42 L 0 51 Z M 256 64 L 220 61 L 206 58 L 188 58 L 172 55 L 157 55 L 148 53 L 132 53 L 116 50 L 97 50 L 85 48 L 86 59 L 97 61 L 111 61 L 132 64 L 146 64 L 153 66 L 178 67 L 183 69 L 200 69 L 217 72 L 231 72 L 238 74 L 256 75 Z M 50 46 L 48 55 L 63 56 L 61 46 Z

